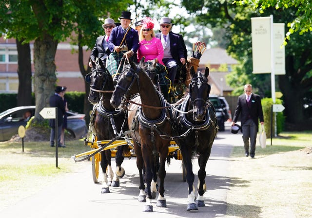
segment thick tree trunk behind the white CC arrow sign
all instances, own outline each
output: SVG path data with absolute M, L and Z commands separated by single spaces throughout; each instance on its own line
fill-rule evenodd
M 55 82 L 55 54 L 58 42 L 51 36 L 45 35 L 43 38 L 37 38 L 34 43 L 34 92 L 36 96 L 35 121 L 43 122 L 39 114 L 41 109 L 50 107 L 49 98 L 54 94 Z

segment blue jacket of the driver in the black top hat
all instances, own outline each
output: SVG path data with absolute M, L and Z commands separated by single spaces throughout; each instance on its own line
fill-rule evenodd
M 109 39 L 108 39 L 108 48 L 111 50 L 111 52 L 114 52 L 115 46 L 120 45 L 123 36 L 124 36 L 124 34 L 123 34 L 123 30 L 122 30 L 121 26 L 117 26 L 112 30 L 111 35 L 109 36 Z M 136 54 L 137 49 L 138 49 L 138 33 L 137 33 L 137 30 L 132 29 L 130 27 L 130 30 L 128 31 L 127 36 L 126 36 L 123 44 L 128 46 L 128 51 L 132 50 L 134 52 L 134 54 Z

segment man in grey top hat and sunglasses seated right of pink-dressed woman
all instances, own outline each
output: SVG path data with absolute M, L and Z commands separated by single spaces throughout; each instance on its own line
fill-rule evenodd
M 161 33 L 156 34 L 156 37 L 161 40 L 164 49 L 162 62 L 168 69 L 168 77 L 173 85 L 178 65 L 185 64 L 186 57 L 184 56 L 184 49 L 180 36 L 170 32 L 172 28 L 171 18 L 161 18 L 159 23 Z

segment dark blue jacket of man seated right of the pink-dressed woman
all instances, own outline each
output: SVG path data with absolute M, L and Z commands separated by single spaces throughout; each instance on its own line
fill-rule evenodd
M 157 33 L 156 37 L 161 39 L 161 33 Z M 169 33 L 169 38 L 170 38 L 171 55 L 176 60 L 176 63 L 181 64 L 180 59 L 182 57 L 184 57 L 186 59 L 186 57 L 184 56 L 184 49 L 182 46 L 182 40 L 181 40 L 180 36 L 173 34 L 171 32 Z

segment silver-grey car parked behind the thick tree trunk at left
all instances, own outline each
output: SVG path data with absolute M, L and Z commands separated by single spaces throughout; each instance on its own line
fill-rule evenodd
M 0 141 L 10 140 L 15 134 L 18 134 L 18 128 L 26 126 L 27 119 L 23 117 L 26 111 L 31 113 L 31 117 L 35 115 L 36 106 L 21 106 L 7 109 L 0 113 Z M 67 131 L 74 138 L 82 138 L 87 133 L 87 126 L 84 120 L 85 114 L 74 111 L 67 111 Z M 47 139 L 48 140 L 48 139 Z

